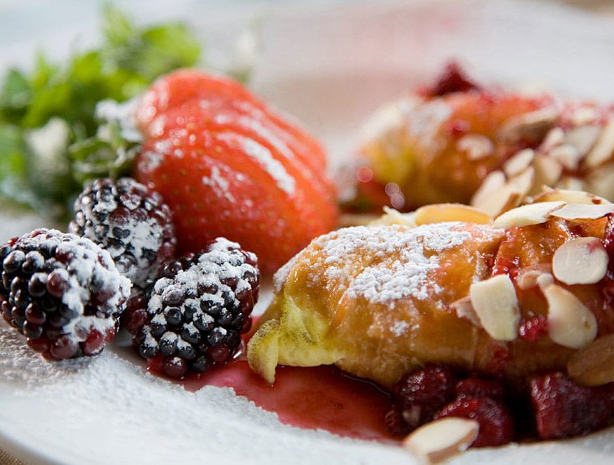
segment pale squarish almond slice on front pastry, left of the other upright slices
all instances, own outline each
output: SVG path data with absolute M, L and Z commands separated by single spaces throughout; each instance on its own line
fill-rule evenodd
M 514 283 L 508 275 L 496 275 L 472 284 L 469 295 L 488 335 L 497 341 L 513 341 L 518 337 L 521 312 Z

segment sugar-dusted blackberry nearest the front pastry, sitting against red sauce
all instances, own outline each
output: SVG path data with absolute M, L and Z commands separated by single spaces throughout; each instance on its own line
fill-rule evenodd
M 132 309 L 133 342 L 151 367 L 157 361 L 167 376 L 207 371 L 240 348 L 259 285 L 255 254 L 217 238 L 200 254 L 165 264 L 147 312 Z

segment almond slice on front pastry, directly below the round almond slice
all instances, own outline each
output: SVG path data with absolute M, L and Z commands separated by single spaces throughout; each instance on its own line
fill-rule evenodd
M 582 349 L 594 341 L 597 320 L 580 299 L 558 284 L 546 287 L 544 296 L 551 340 L 570 349 Z

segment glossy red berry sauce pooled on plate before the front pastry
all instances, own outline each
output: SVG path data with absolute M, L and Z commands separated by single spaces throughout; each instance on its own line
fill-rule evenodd
M 149 371 L 160 373 L 155 363 Z M 205 373 L 189 374 L 180 383 L 195 392 L 204 386 L 233 388 L 280 422 L 302 429 L 325 429 L 353 439 L 396 441 L 385 423 L 391 396 L 375 384 L 355 379 L 332 366 L 278 367 L 271 386 L 252 372 L 241 355 Z

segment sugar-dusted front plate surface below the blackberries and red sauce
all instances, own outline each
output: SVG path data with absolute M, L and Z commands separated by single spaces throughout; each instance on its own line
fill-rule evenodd
M 20 443 L 37 438 L 38 450 L 69 437 L 70 447 L 54 462 L 200 465 L 249 457 L 248 463 L 310 464 L 335 457 L 336 464 L 350 465 L 361 457 L 407 463 L 401 448 L 283 425 L 231 388 L 188 392 L 147 374 L 121 348 L 85 362 L 47 363 L 27 356 L 23 338 L 3 323 L 0 344 L 0 411 L 10 418 L 3 427 Z M 345 453 L 336 457 L 339 450 Z

